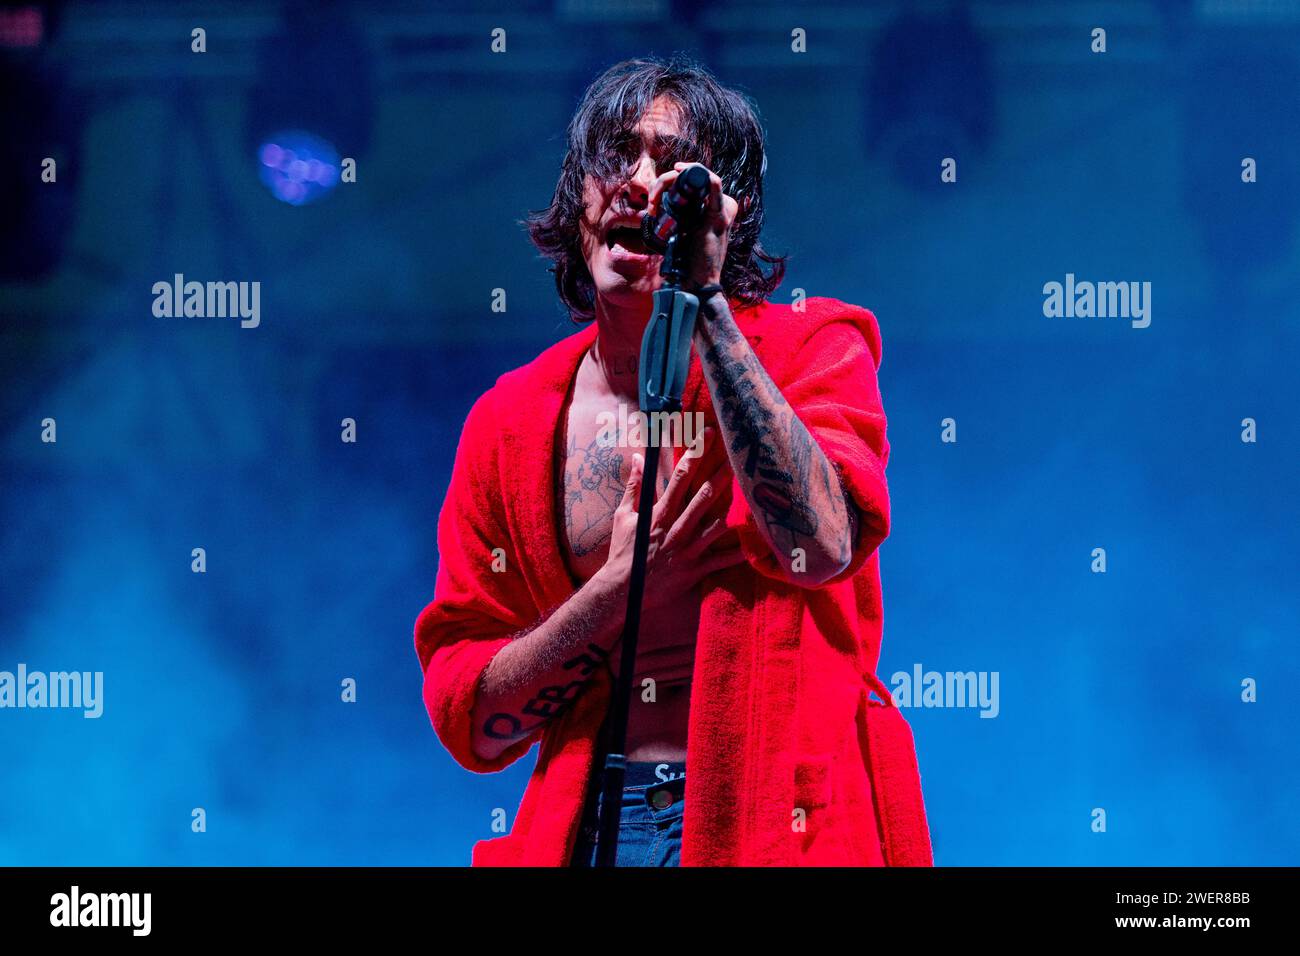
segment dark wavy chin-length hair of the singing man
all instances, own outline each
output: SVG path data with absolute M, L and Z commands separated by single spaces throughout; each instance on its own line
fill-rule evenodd
M 754 105 L 684 56 L 625 60 L 597 77 L 582 95 L 569 121 L 568 150 L 551 204 L 524 221 L 533 245 L 554 261 L 555 287 L 576 323 L 595 317 L 595 285 L 578 228 L 586 176 L 608 186 L 629 173 L 638 142 L 633 130 L 659 96 L 681 108 L 682 124 L 681 146 L 664 157 L 663 169 L 673 163 L 703 163 L 718 173 L 724 193 L 737 200 L 749 198 L 728 238 L 722 273 L 727 297 L 758 304 L 785 276 L 785 256 L 768 255 L 758 241 L 767 156 Z M 764 263 L 772 267 L 770 272 L 763 271 Z

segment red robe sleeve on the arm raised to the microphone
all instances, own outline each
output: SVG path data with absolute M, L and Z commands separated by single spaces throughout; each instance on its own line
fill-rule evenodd
M 810 299 L 809 306 L 814 307 L 814 302 L 818 300 Z M 889 442 L 876 384 L 880 329 L 875 316 L 858 306 L 835 300 L 816 307 L 824 308 L 824 313 L 809 323 L 811 329 L 783 365 L 780 377 L 772 377 L 835 467 L 862 519 L 848 567 L 814 585 L 824 588 L 855 575 L 889 535 L 885 484 Z M 776 580 L 788 580 L 738 481 L 733 483 L 727 523 L 737 528 L 741 550 L 755 570 Z

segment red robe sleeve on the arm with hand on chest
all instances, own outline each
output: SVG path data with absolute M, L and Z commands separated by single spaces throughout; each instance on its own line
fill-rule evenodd
M 494 760 L 482 760 L 471 744 L 484 669 L 540 617 L 521 584 L 519 555 L 500 510 L 491 395 L 489 390 L 474 402 L 465 419 L 438 516 L 434 596 L 415 626 L 429 721 L 456 762 L 476 773 L 510 766 L 541 736 L 538 730 Z M 504 561 L 504 570 L 494 571 L 494 561 L 498 567 Z

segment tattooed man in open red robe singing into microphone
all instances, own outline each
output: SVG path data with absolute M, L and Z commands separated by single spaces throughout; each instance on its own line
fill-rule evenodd
M 645 476 L 654 432 L 625 423 L 662 277 L 640 228 L 696 163 L 711 189 L 686 237 L 701 311 L 682 428 Z M 618 865 L 931 864 L 911 731 L 875 675 L 880 333 L 835 299 L 768 302 L 784 261 L 759 243 L 766 165 L 742 95 L 682 59 L 621 62 L 586 91 L 529 220 L 585 325 L 471 408 L 415 631 L 456 761 L 495 771 L 541 741 L 511 831 L 474 865 L 595 860 L 642 481 L 656 497 Z

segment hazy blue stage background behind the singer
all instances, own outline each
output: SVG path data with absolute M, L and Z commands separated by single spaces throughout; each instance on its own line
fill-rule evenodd
M 5 256 L 57 256 L 0 284 L 0 670 L 105 700 L 0 710 L 0 864 L 462 865 L 514 816 L 536 750 L 451 761 L 412 626 L 465 412 L 575 328 L 519 220 L 584 85 L 675 49 L 762 111 L 777 300 L 880 321 L 879 674 L 1000 675 L 996 719 L 907 711 L 936 862 L 1297 862 L 1300 7 L 629 9 L 69 4 L 4 51 L 64 87 L 8 155 L 66 152 L 6 165 L 42 212 Z M 295 207 L 257 43 L 350 12 L 369 82 L 292 82 L 359 112 L 358 181 Z M 174 273 L 260 281 L 260 326 L 155 317 Z M 1066 273 L 1149 281 L 1149 328 L 1044 317 Z

